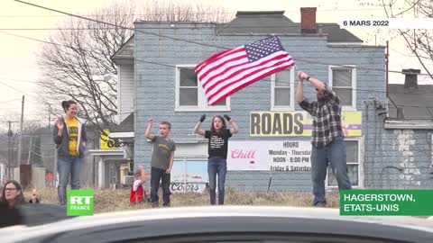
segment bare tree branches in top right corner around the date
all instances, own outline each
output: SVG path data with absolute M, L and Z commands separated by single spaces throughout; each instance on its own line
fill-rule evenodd
M 433 2 L 431 0 L 381 0 L 388 18 L 433 18 Z M 407 47 L 418 58 L 419 64 L 433 79 L 433 30 L 413 29 L 397 30 L 406 41 Z

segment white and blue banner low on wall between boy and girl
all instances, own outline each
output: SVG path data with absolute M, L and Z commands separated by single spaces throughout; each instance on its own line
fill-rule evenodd
M 175 159 L 170 174 L 171 193 L 204 193 L 209 182 L 207 160 Z

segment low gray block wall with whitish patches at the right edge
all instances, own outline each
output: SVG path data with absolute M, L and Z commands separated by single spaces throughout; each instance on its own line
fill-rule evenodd
M 376 126 L 368 122 L 365 137 L 365 187 L 432 188 L 433 130 L 384 130 L 382 118 L 377 120 Z

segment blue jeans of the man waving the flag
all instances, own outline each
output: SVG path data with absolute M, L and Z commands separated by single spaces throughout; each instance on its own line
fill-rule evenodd
M 326 203 L 325 199 L 325 178 L 327 177 L 327 165 L 331 166 L 338 189 L 351 189 L 349 176 L 347 175 L 347 165 L 345 161 L 345 141 L 343 137 L 336 137 L 327 146 L 316 148 L 313 146 L 311 151 L 311 178 L 313 180 L 313 204 L 319 202 Z

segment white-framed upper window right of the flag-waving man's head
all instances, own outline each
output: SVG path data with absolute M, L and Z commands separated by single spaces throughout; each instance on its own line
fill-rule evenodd
M 329 67 L 329 85 L 338 94 L 344 110 L 356 109 L 356 69 Z

